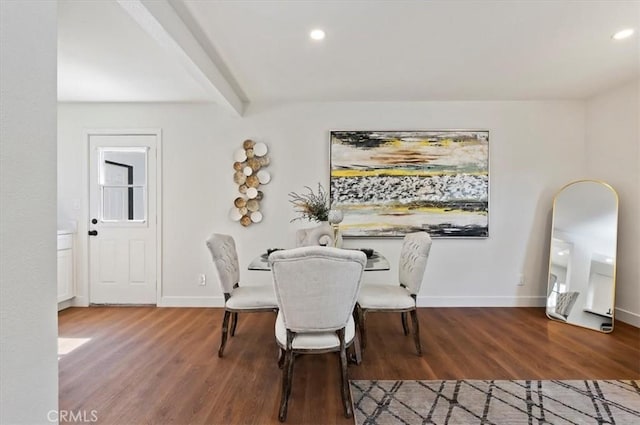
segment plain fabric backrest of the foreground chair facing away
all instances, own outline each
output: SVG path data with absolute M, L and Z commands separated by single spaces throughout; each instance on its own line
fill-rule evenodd
M 367 263 L 363 252 L 309 246 L 274 252 L 269 262 L 287 329 L 326 332 L 347 325 Z

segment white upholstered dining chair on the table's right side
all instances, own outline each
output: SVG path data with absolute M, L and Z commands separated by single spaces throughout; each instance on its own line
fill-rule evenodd
M 422 355 L 420 344 L 420 324 L 416 310 L 416 296 L 422 285 L 422 278 L 431 250 L 431 237 L 426 232 L 409 233 L 404 237 L 400 250 L 399 284 L 362 285 L 356 313 L 361 345 L 367 346 L 366 317 L 370 311 L 397 312 L 401 314 L 402 329 L 409 335 L 407 313 L 413 322 L 413 338 L 418 356 Z

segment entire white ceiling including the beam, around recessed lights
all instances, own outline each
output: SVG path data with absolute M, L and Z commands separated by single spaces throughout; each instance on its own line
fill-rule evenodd
M 62 0 L 58 96 L 584 99 L 640 75 L 639 30 L 640 0 Z

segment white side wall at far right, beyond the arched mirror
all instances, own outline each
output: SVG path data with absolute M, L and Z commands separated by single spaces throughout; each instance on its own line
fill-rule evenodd
M 587 172 L 619 196 L 616 318 L 640 326 L 640 80 L 587 102 Z

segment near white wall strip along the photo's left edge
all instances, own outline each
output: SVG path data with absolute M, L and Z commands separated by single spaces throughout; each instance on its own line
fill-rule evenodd
M 0 423 L 44 424 L 58 406 L 56 2 L 0 1 L 0 20 Z

